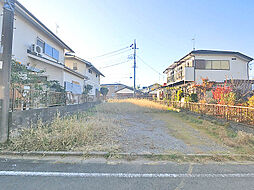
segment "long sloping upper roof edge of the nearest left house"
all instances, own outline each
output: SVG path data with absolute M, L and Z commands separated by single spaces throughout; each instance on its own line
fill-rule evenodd
M 16 1 L 15 11 L 20 13 L 30 23 L 40 28 L 46 35 L 51 37 L 56 43 L 61 45 L 63 48 L 74 53 L 74 51 L 68 45 L 66 45 L 57 35 L 55 35 L 48 27 L 46 27 L 38 18 L 36 18 L 30 11 L 28 11 L 19 1 Z

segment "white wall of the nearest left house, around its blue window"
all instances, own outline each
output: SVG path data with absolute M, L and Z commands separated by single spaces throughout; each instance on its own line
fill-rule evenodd
M 3 12 L 3 3 L 0 3 L 1 10 Z M 0 33 L 2 32 L 2 19 L 0 18 Z M 42 60 L 38 61 L 28 56 L 27 49 L 30 49 L 32 44 L 36 44 L 37 38 L 45 41 L 53 48 L 59 51 L 59 62 L 64 63 L 64 48 L 58 43 L 48 37 L 44 32 L 38 29 L 35 25 L 28 22 L 20 13 L 15 12 L 14 20 L 14 34 L 13 34 L 13 58 L 21 64 L 27 65 L 28 63 L 35 68 L 46 70 L 46 75 L 49 80 L 58 80 L 63 85 L 63 70 L 59 67 L 54 67 L 48 63 L 44 63 Z M 53 58 L 43 55 L 49 60 L 56 61 Z M 53 64 L 57 64 L 54 63 Z M 59 66 L 59 64 L 57 64 Z

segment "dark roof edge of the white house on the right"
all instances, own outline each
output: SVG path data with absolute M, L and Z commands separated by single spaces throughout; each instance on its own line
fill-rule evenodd
M 163 71 L 163 73 L 165 73 L 167 70 L 174 68 L 178 63 L 180 63 L 181 61 L 183 61 L 185 58 L 189 57 L 189 56 L 194 56 L 194 55 L 203 55 L 203 54 L 208 54 L 208 55 L 213 55 L 213 54 L 219 54 L 219 55 L 237 55 L 239 57 L 242 57 L 243 59 L 246 59 L 247 61 L 252 61 L 253 58 L 244 55 L 240 52 L 237 51 L 224 51 L 224 50 L 193 50 L 190 53 L 188 53 L 187 55 L 185 55 L 184 57 L 182 57 L 181 59 L 179 59 L 178 61 L 175 61 L 173 64 L 171 64 L 167 69 L 165 69 L 165 71 Z

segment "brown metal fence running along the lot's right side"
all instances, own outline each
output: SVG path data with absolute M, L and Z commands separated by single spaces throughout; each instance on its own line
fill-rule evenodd
M 174 101 L 161 101 L 161 103 L 199 114 L 254 125 L 254 108 L 252 107 Z

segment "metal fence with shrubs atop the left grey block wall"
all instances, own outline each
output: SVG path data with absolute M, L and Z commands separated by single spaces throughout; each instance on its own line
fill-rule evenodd
M 10 91 L 11 111 L 38 109 L 93 101 L 92 97 L 70 92 L 18 89 Z

